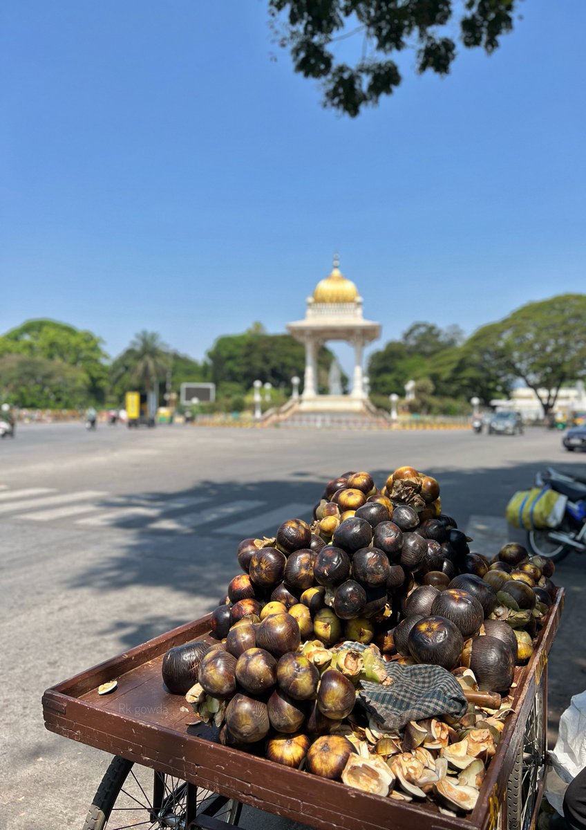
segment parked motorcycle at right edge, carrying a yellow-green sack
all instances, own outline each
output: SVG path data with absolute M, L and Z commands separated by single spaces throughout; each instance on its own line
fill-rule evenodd
M 527 546 L 534 553 L 559 562 L 570 551 L 586 554 L 586 478 L 553 467 L 537 473 L 535 485 L 549 486 L 567 496 L 564 517 L 555 528 L 527 531 Z

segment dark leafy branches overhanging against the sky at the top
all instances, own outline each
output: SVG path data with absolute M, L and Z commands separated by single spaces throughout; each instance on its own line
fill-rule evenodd
M 294 70 L 321 81 L 323 105 L 355 117 L 400 85 L 391 56 L 411 49 L 419 74 L 448 75 L 458 37 L 466 48 L 491 54 L 511 32 L 519 6 L 520 0 L 269 0 L 269 16 Z M 335 54 L 347 38 L 356 43 L 356 59 L 348 62 Z

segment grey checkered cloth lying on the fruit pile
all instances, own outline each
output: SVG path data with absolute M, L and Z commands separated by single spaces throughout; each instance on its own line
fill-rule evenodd
M 467 701 L 456 678 L 442 668 L 420 663 L 401 666 L 385 665 L 388 685 L 361 682 L 358 695 L 366 709 L 388 730 L 400 730 L 409 720 L 422 720 L 438 715 L 461 717 Z

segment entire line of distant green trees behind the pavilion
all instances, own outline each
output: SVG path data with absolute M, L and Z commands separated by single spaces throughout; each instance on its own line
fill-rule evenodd
M 419 413 L 469 411 L 472 396 L 489 403 L 506 397 L 520 380 L 535 390 L 545 413 L 555 407 L 563 384 L 586 378 L 586 295 L 566 294 L 522 306 L 504 320 L 484 325 L 465 338 L 458 326 L 415 322 L 370 355 L 370 397 L 388 408 L 389 395 L 404 397 L 415 383 L 409 408 Z M 327 391 L 334 354 L 317 357 L 317 383 Z M 250 402 L 254 380 L 271 386 L 272 404 L 291 393 L 291 378 L 302 382 L 303 345 L 288 334 L 267 334 L 254 323 L 243 334 L 216 339 L 198 362 L 141 331 L 114 360 L 90 331 L 55 320 L 28 320 L 0 336 L 0 401 L 27 408 L 121 406 L 130 389 L 178 392 L 182 383 L 216 383 L 216 404 L 240 410 Z M 342 373 L 342 387 L 348 378 Z M 547 390 L 543 393 L 542 390 Z

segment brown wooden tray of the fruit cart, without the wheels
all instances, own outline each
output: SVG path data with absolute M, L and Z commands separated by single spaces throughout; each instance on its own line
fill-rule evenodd
M 433 804 L 399 803 L 281 767 L 215 743 L 205 725 L 188 726 L 194 715 L 185 699 L 162 685 L 162 656 L 172 646 L 207 637 L 209 615 L 48 689 L 42 701 L 45 725 L 58 735 L 322 830 L 493 830 L 563 603 L 560 588 L 529 664 L 516 669 L 514 714 L 506 720 L 477 807 L 465 818 L 439 813 Z M 117 689 L 99 696 L 98 686 L 112 680 L 118 681 Z

